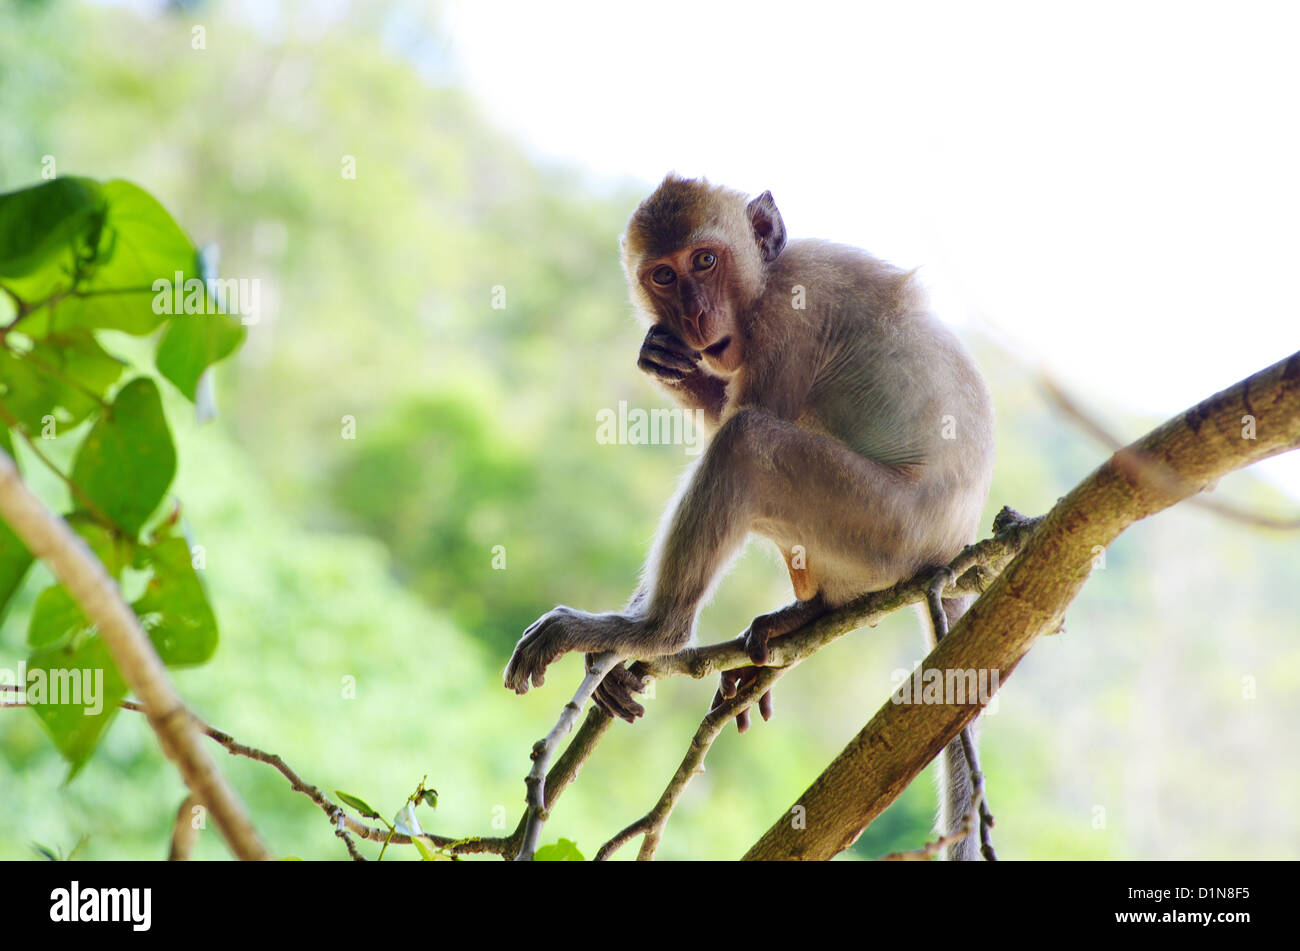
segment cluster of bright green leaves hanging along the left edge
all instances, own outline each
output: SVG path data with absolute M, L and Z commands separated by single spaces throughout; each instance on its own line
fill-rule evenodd
M 239 321 L 209 300 L 200 264 L 166 210 L 127 182 L 55 178 L 0 195 L 0 292 L 9 311 L 0 325 L 5 451 L 13 456 L 21 438 L 66 483 L 72 508 L 61 514 L 113 578 L 148 572 L 131 607 L 168 665 L 211 657 L 216 618 L 188 544 L 172 537 L 174 520 L 164 516 L 142 534 L 176 477 L 176 450 L 157 383 L 133 375 L 116 387 L 126 361 L 105 351 L 99 334 L 148 335 L 165 325 L 155 366 L 195 399 L 199 377 L 244 335 Z M 188 290 L 192 312 L 159 305 L 160 296 L 170 304 L 173 287 Z M 160 295 L 161 288 L 168 290 Z M 75 446 L 72 464 L 56 466 L 38 442 L 62 443 L 65 455 Z M 31 563 L 12 531 L 0 533 L 0 616 Z M 5 679 L 25 687 L 75 774 L 117 713 L 126 683 L 61 585 L 36 595 L 27 644 L 26 672 Z

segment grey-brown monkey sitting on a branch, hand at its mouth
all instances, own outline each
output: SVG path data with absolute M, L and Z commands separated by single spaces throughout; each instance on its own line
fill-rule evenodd
M 632 214 L 621 248 L 649 326 L 637 364 L 684 408 L 703 411 L 708 446 L 628 605 L 543 615 L 515 647 L 506 686 L 541 686 L 566 651 L 681 650 L 755 533 L 784 556 L 796 600 L 754 618 L 742 638 L 755 666 L 723 674 L 716 704 L 767 663 L 771 638 L 944 565 L 974 539 L 993 472 L 992 403 L 911 273 L 842 244 L 786 242 L 771 192 L 746 200 L 670 174 Z M 963 608 L 944 602 L 949 624 Z M 614 668 L 595 696 L 628 721 L 644 713 L 634 670 Z M 771 713 L 770 696 L 759 712 Z M 970 800 L 958 741 L 940 763 L 950 831 Z M 974 857 L 975 838 L 949 857 Z

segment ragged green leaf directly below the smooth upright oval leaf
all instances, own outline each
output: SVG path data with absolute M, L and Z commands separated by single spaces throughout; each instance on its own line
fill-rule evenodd
M 190 546 L 183 538 L 169 538 L 144 552 L 153 577 L 131 609 L 164 664 L 204 663 L 217 650 L 217 618 L 194 570 Z

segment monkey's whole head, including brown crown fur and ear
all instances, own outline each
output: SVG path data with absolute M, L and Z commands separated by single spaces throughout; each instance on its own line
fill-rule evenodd
M 670 174 L 632 213 L 621 247 L 637 309 L 715 369 L 740 366 L 746 311 L 785 247 L 772 194 L 748 201 L 702 178 Z

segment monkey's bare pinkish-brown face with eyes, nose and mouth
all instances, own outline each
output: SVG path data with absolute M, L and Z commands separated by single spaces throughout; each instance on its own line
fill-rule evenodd
M 641 286 L 660 320 L 715 369 L 740 365 L 734 295 L 729 291 L 729 248 L 701 242 L 647 261 Z

